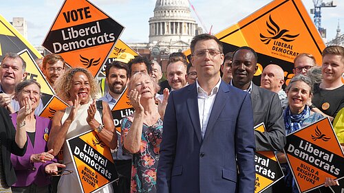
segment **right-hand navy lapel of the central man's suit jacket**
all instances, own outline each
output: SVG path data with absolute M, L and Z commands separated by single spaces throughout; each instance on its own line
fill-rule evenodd
M 209 135 L 208 133 L 211 133 L 219 114 L 222 112 L 222 109 L 224 109 L 224 106 L 226 106 L 226 100 L 228 100 L 229 97 L 228 92 L 228 85 L 224 82 L 221 82 L 219 85 L 219 91 L 217 91 L 215 102 L 213 104 L 213 109 L 211 109 L 211 115 L 208 120 L 208 125 L 206 126 L 204 139 L 206 139 L 206 137 Z

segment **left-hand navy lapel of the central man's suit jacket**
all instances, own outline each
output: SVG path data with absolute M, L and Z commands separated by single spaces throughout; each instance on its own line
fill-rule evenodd
M 200 125 L 200 114 L 198 113 L 198 101 L 197 101 L 197 89 L 196 84 L 189 87 L 189 93 L 186 98 L 186 106 L 191 117 L 191 123 L 193 124 L 193 129 L 197 135 L 197 139 L 202 143 L 201 125 Z

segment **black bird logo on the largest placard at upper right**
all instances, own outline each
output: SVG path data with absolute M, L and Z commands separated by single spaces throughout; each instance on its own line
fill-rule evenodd
M 268 33 L 271 34 L 271 37 L 264 36 L 263 34 L 260 35 L 260 40 L 264 42 L 265 44 L 270 43 L 271 40 L 281 39 L 286 42 L 294 41 L 299 34 L 291 35 L 287 34 L 289 30 L 281 30 L 279 29 L 279 26 L 275 23 L 275 21 L 272 20 L 271 15 L 269 16 L 269 21 L 266 21 L 266 25 L 268 26 Z

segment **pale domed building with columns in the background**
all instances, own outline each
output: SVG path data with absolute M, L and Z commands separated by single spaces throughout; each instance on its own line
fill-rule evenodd
M 149 19 L 149 43 L 128 43 L 142 56 L 157 60 L 165 69 L 173 52 L 189 49 L 192 38 L 202 34 L 191 16 L 188 0 L 157 0 Z

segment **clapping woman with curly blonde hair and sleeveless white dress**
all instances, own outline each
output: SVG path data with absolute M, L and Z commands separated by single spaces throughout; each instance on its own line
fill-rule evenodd
M 97 87 L 92 74 L 83 68 L 69 69 L 56 80 L 57 95 L 63 100 L 69 100 L 72 106 L 55 113 L 47 146 L 54 150 L 52 154 L 55 156 L 63 147 L 65 170 L 74 171 L 72 174 L 61 177 L 58 182 L 58 192 L 82 192 L 78 185 L 76 168 L 69 155 L 66 139 L 89 130 L 95 130 L 100 140 L 109 148 L 115 149 L 117 146 L 117 135 L 114 133 L 114 120 L 109 105 L 103 102 L 103 120 L 96 109 L 94 96 L 98 90 Z M 111 185 L 98 192 L 112 192 Z

